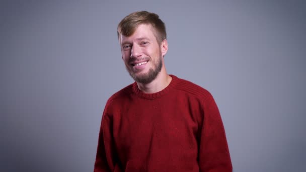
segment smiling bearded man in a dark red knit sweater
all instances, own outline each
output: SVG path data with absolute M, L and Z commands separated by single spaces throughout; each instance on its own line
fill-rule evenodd
M 135 82 L 106 103 L 94 171 L 232 171 L 213 97 L 167 74 L 166 28 L 159 16 L 132 13 L 117 33 Z

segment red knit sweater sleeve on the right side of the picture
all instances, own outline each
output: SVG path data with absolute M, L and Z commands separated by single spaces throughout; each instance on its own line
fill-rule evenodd
M 202 121 L 199 167 L 200 171 L 232 171 L 232 162 L 221 116 L 213 97 L 209 94 L 202 104 L 204 119 Z

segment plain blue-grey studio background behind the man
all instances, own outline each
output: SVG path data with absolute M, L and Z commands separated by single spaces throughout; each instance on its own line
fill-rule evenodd
M 139 10 L 166 23 L 168 72 L 214 96 L 234 171 L 305 171 L 304 2 L 1 1 L 0 171 L 93 170 Z

